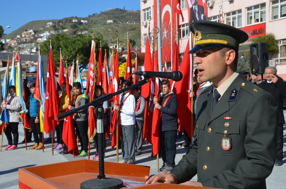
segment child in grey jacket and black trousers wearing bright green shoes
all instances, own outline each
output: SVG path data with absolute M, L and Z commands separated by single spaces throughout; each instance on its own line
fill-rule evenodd
M 82 93 L 82 85 L 80 82 L 74 82 L 74 102 L 71 105 L 68 105 L 70 110 L 83 106 L 88 103 L 88 97 L 86 94 Z M 68 103 L 67 103 L 68 104 Z M 80 155 L 78 157 L 88 156 L 88 108 L 80 110 L 74 114 L 74 119 L 76 121 L 76 134 L 80 139 Z

